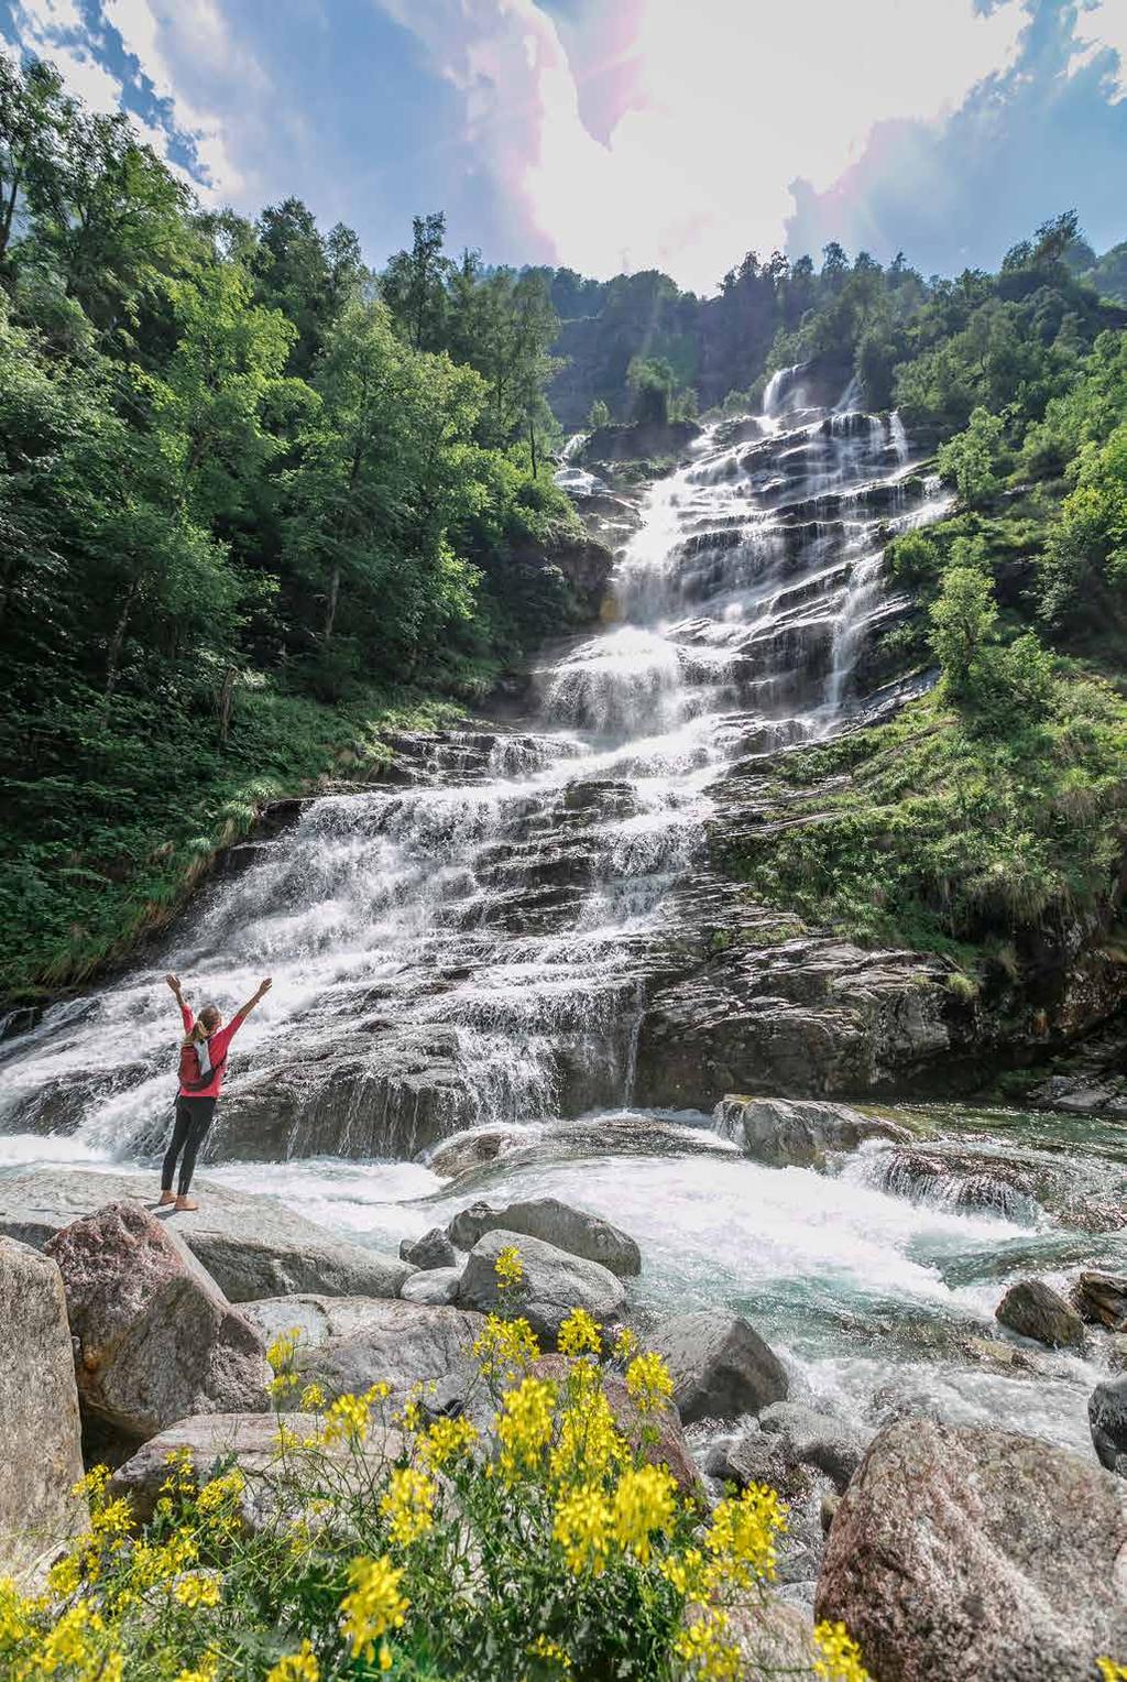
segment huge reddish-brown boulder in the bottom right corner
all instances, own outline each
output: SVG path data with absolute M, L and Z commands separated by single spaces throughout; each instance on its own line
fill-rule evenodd
M 890 1425 L 841 1497 L 816 1616 L 880 1682 L 1090 1682 L 1127 1652 L 1127 1485 L 1029 1436 Z

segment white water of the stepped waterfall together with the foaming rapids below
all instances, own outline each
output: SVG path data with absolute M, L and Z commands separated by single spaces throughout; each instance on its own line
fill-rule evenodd
M 491 1193 L 609 1214 L 643 1241 L 656 1304 L 749 1309 L 816 1396 L 870 1420 L 925 1332 L 949 1351 L 981 1325 L 997 1290 L 974 1258 L 1028 1243 L 1013 1211 L 772 1171 L 701 1115 L 621 1113 L 728 767 L 849 718 L 866 627 L 888 606 L 885 533 L 945 506 L 912 474 L 897 417 L 802 410 L 799 373 L 775 375 L 764 417 L 706 431 L 648 491 L 612 622 L 535 673 L 528 732 L 407 743 L 412 780 L 310 802 L 209 890 L 158 965 L 10 1041 L 0 1164 L 151 1162 L 177 1043 L 163 971 L 224 1009 L 269 972 L 209 1140 L 219 1179 L 394 1243 L 464 1201 L 444 1203 L 439 1177 L 404 1159 L 508 1127 L 526 1149 L 496 1162 Z M 1083 1435 L 1077 1361 L 1061 1357 L 1036 1404 L 1029 1386 L 954 1359 L 942 1384 L 966 1416 Z

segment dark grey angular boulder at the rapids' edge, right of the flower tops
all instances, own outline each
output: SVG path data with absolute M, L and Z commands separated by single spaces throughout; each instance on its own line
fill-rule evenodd
M 737 1420 L 786 1401 L 787 1369 L 740 1314 L 705 1309 L 661 1320 L 649 1339 L 673 1374 L 681 1420 Z

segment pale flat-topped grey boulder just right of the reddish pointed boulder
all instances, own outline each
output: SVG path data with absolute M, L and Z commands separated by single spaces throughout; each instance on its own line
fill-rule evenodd
M 442 1401 L 452 1403 L 478 1371 L 471 1347 L 483 1320 L 464 1309 L 301 1295 L 249 1304 L 247 1315 L 267 1339 L 291 1327 L 301 1332 L 294 1367 L 330 1399 L 380 1381 L 395 1393 L 434 1381 Z

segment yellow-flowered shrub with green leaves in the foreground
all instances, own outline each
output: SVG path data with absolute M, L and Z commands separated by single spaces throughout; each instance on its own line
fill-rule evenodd
M 520 1283 L 505 1258 L 503 1288 Z M 170 1457 L 150 1524 L 84 1482 L 91 1527 L 49 1591 L 0 1588 L 0 1663 L 66 1682 L 328 1682 L 410 1677 L 735 1679 L 752 1674 L 747 1616 L 775 1571 L 786 1509 L 728 1494 L 706 1515 L 653 1463 L 671 1379 L 629 1332 L 609 1359 L 641 1431 L 606 1393 L 604 1332 L 582 1310 L 560 1334 L 565 1376 L 538 1376 L 528 1322 L 491 1315 L 474 1344 L 479 1393 L 459 1418 L 399 1408 L 387 1384 L 326 1403 L 294 1373 L 298 1334 L 269 1351 L 278 1447 L 252 1475 L 227 1462 L 200 1485 Z M 479 1435 L 473 1418 L 489 1404 Z M 310 1421 L 315 1416 L 315 1423 Z M 823 1626 L 811 1670 L 865 1682 L 855 1643 Z

